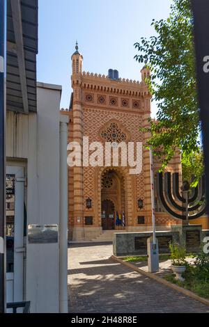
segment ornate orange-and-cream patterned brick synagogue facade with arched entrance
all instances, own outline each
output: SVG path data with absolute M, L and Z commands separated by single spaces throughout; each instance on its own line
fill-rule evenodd
M 82 145 L 83 137 L 89 143 L 141 142 L 145 144 L 151 95 L 146 85 L 150 71 L 141 70 L 141 81 L 118 78 L 116 70 L 109 75 L 90 74 L 82 69 L 83 57 L 76 47 L 72 55 L 72 98 L 68 142 Z M 143 147 L 142 171 L 130 175 L 130 167 L 85 166 L 68 168 L 69 239 L 84 241 L 100 239 L 106 230 L 127 232 L 152 228 L 150 191 L 150 155 Z M 136 156 L 136 154 L 134 154 Z M 82 162 L 83 163 L 83 162 Z M 155 171 L 159 163 L 154 162 Z M 180 155 L 176 154 L 167 167 L 180 172 Z M 180 223 L 162 211 L 155 198 L 155 217 L 158 230 L 169 230 L 171 224 Z

